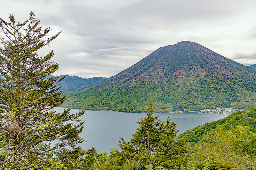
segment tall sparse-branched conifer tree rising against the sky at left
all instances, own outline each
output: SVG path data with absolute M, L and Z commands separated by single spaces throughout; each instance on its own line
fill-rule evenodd
M 24 22 L 13 14 L 9 22 L 0 18 L 0 169 L 46 169 L 55 165 L 54 151 L 84 141 L 78 136 L 84 122 L 73 122 L 85 111 L 51 110 L 65 101 L 57 88 L 61 79 L 47 78 L 59 65 L 51 60 L 53 50 L 45 56 L 37 51 L 60 32 L 47 38 L 51 28 L 39 23 L 32 11 Z

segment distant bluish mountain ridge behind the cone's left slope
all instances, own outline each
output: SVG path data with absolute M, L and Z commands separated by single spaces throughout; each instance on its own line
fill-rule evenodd
M 59 78 L 62 78 L 66 75 L 61 75 Z M 48 77 L 54 77 L 52 75 L 49 75 Z M 47 78 L 48 78 L 47 77 Z M 60 90 L 78 90 L 85 87 L 88 87 L 90 85 L 93 85 L 95 83 L 101 82 L 107 78 L 103 77 L 93 77 L 93 78 L 81 78 L 78 76 L 69 76 L 67 75 L 63 80 L 60 81 Z

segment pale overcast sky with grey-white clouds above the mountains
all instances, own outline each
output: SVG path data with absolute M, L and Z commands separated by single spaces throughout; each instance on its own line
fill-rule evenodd
M 192 41 L 244 65 L 256 63 L 255 0 L 1 0 L 0 18 L 27 20 L 49 36 L 38 52 L 59 63 L 54 75 L 111 77 L 162 46 Z

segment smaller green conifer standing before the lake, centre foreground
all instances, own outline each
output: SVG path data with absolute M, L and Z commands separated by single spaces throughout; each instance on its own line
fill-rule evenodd
M 146 169 L 146 165 L 167 169 L 178 169 L 187 161 L 188 145 L 186 138 L 175 141 L 176 123 L 168 118 L 161 121 L 158 116 L 153 117 L 154 106 L 151 102 L 147 116 L 138 122 L 140 128 L 132 134 L 130 141 L 124 141 L 121 137 L 119 156 L 122 160 L 121 169 Z

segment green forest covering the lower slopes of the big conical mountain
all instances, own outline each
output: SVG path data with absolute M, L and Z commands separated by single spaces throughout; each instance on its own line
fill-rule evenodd
M 240 82 L 242 80 L 234 79 L 236 84 L 227 78 L 222 80 L 226 76 L 230 77 L 216 73 L 213 78 L 198 78 L 193 81 L 185 77 L 181 90 L 181 80 L 175 78 L 167 81 L 164 78 L 150 77 L 147 78 L 148 82 L 138 80 L 116 84 L 101 82 L 77 91 L 63 91 L 62 96 L 68 96 L 68 99 L 61 107 L 141 112 L 141 107 L 155 101 L 157 112 L 177 112 L 231 106 L 244 109 L 254 106 L 255 87 L 248 85 L 252 89 L 245 89 L 246 85 Z M 158 82 L 157 85 L 155 81 Z

